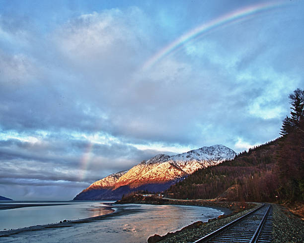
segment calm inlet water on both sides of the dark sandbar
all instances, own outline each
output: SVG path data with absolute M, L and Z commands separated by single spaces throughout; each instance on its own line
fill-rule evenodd
M 164 235 L 167 232 L 179 230 L 192 222 L 208 221 L 210 218 L 223 214 L 216 209 L 195 206 L 142 204 L 111 206 L 107 203 L 67 202 L 66 205 L 0 210 L 0 229 L 2 231 L 3 229 L 24 227 L 25 224 L 27 224 L 26 226 L 32 226 L 56 223 L 63 219 L 73 220 L 88 218 L 97 214 L 103 215 L 99 220 L 93 222 L 73 224 L 68 228 L 24 231 L 7 238 L 0 238 L 0 241 L 139 243 L 147 242 L 149 236 L 154 234 Z M 53 202 L 53 204 L 56 203 Z M 113 212 L 113 210 L 115 211 Z M 43 220 L 43 222 L 48 222 L 37 223 L 38 219 L 41 219 L 41 222 Z M 14 222 L 15 226 L 12 226 Z M 36 223 L 33 224 L 32 222 Z

